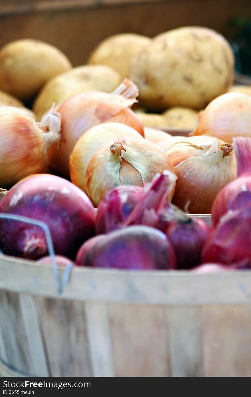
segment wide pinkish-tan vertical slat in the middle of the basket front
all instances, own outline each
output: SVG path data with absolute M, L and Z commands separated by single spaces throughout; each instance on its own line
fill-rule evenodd
M 109 314 L 115 376 L 170 376 L 167 308 L 109 304 Z

